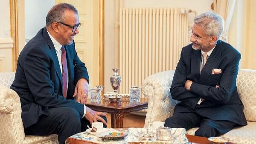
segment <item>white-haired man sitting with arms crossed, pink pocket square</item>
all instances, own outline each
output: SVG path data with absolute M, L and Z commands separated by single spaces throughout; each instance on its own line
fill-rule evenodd
M 223 27 L 213 12 L 195 17 L 192 43 L 182 49 L 170 89 L 180 103 L 165 126 L 199 127 L 195 135 L 214 137 L 247 124 L 236 88 L 241 55 L 219 40 Z

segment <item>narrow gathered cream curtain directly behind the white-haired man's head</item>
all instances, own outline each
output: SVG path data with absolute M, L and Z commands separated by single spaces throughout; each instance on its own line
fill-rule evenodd
M 227 33 L 230 27 L 230 22 L 232 20 L 236 0 L 214 0 L 214 11 L 220 14 L 225 20 L 225 25 L 220 39 L 228 41 Z

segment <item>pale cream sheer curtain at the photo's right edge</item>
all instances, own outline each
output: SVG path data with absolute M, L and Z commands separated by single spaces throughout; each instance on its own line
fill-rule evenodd
M 239 68 L 256 69 L 256 0 L 236 0 L 228 42 L 241 52 Z

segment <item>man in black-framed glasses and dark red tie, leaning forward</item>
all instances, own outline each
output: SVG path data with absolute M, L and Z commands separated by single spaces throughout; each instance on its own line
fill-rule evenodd
M 105 113 L 84 105 L 89 76 L 73 40 L 80 25 L 74 6 L 55 5 L 47 14 L 45 28 L 20 52 L 10 88 L 20 96 L 26 135 L 55 133 L 59 144 L 64 144 L 92 122 L 107 125 Z

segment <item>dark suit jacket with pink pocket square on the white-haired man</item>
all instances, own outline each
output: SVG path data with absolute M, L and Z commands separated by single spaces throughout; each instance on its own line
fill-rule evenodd
M 218 40 L 200 75 L 201 50 L 192 49 L 192 44 L 183 47 L 171 86 L 172 98 L 181 101 L 175 112 L 196 112 L 212 120 L 246 125 L 236 88 L 240 58 L 230 44 Z M 212 75 L 212 69 L 221 69 L 222 73 Z M 186 80 L 193 81 L 190 91 L 184 88 Z M 200 98 L 205 101 L 198 105 Z

